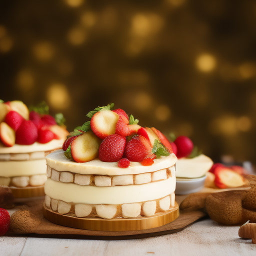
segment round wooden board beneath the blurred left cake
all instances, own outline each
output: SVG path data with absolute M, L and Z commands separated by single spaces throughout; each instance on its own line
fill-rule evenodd
M 44 185 L 41 186 L 26 186 L 26 187 L 13 187 L 10 186 L 11 192 L 15 198 L 28 199 L 29 197 L 44 196 Z

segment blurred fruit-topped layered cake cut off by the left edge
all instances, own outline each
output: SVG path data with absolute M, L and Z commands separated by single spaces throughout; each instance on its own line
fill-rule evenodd
M 22 101 L 0 102 L 0 185 L 15 197 L 44 195 L 45 156 L 61 148 L 67 134 L 44 104 L 29 112 Z

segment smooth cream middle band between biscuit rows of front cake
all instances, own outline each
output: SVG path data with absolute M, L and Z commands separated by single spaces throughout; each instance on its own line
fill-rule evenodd
M 50 198 L 73 203 L 121 204 L 154 200 L 175 190 L 175 176 L 139 185 L 98 187 L 63 183 L 47 178 L 44 191 Z

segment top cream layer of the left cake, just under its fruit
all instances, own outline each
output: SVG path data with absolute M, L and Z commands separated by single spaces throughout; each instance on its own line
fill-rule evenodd
M 19 145 L 14 144 L 13 146 L 7 147 L 0 143 L 0 154 L 5 153 L 30 153 L 30 152 L 37 152 L 37 151 L 49 151 L 55 148 L 61 148 L 64 139 L 52 139 L 51 141 L 42 144 L 39 142 L 34 142 L 31 145 Z

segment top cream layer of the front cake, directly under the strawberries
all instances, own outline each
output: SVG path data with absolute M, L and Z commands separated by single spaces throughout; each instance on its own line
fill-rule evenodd
M 51 152 L 46 156 L 46 163 L 49 167 L 58 171 L 71 171 L 79 174 L 101 174 L 101 175 L 126 175 L 152 172 L 166 169 L 174 165 L 177 160 L 175 154 L 162 156 L 154 159 L 150 166 L 143 166 L 140 162 L 131 162 L 128 168 L 120 168 L 117 162 L 102 162 L 98 158 L 88 162 L 74 162 L 66 159 L 62 149 Z

